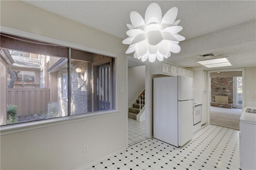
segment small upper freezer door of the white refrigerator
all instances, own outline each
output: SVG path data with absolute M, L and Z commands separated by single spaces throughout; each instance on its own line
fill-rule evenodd
M 193 79 L 185 76 L 178 76 L 178 100 L 192 100 L 193 97 Z

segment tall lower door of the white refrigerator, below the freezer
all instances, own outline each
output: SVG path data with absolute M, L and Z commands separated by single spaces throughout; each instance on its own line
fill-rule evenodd
M 178 143 L 183 146 L 193 137 L 193 101 L 178 102 Z

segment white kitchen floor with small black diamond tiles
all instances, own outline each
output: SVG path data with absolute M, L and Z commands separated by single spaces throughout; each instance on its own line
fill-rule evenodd
M 145 139 L 90 170 L 215 170 L 239 169 L 239 131 L 207 125 L 184 147 Z

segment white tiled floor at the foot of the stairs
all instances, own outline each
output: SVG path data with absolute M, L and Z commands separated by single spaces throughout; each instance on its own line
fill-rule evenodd
M 145 121 L 138 122 L 128 118 L 128 146 L 147 139 L 145 137 Z

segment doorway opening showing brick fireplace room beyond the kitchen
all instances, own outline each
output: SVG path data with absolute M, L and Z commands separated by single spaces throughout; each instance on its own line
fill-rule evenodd
M 243 106 L 242 70 L 210 71 L 210 124 L 239 130 Z

